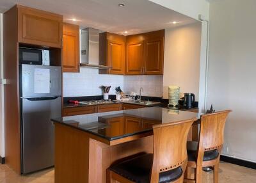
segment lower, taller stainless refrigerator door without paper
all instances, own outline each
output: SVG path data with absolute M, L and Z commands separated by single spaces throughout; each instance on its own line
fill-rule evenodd
M 61 116 L 61 97 L 20 99 L 22 106 L 22 173 L 54 165 L 54 125 Z

